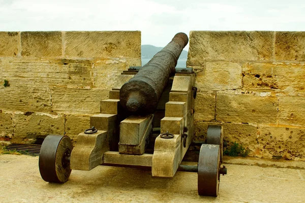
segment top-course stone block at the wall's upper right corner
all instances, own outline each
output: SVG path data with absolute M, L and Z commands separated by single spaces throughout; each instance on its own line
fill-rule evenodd
M 276 60 L 305 61 L 305 32 L 277 31 Z

